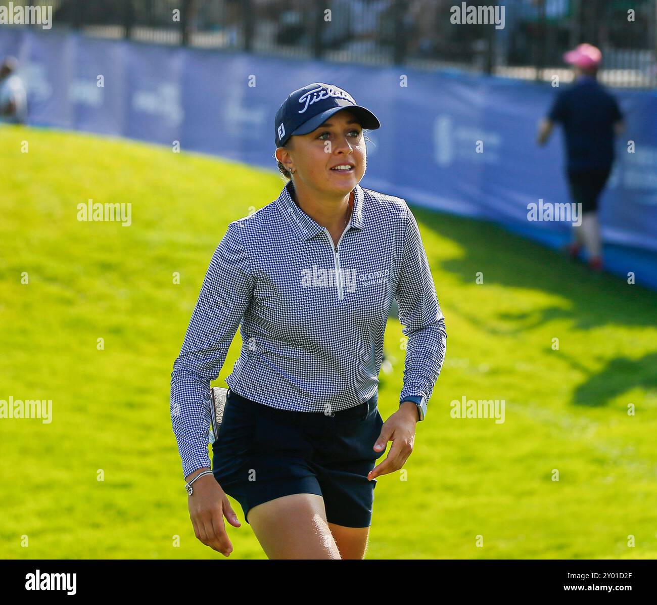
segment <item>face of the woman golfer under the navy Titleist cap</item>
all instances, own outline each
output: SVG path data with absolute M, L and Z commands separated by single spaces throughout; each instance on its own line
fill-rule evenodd
M 308 187 L 347 194 L 363 178 L 367 168 L 363 129 L 350 111 L 336 112 L 319 128 L 294 139 L 295 177 Z M 340 164 L 353 168 L 333 169 Z

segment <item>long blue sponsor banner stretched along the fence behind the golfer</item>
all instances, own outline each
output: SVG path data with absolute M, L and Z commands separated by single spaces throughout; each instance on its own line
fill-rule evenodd
M 0 28 L 0 55 L 7 54 L 21 62 L 34 125 L 179 141 L 183 150 L 273 170 L 279 104 L 309 82 L 336 83 L 382 123 L 368 135 L 363 187 L 490 219 L 549 246 L 570 236 L 567 221 L 528 219 L 531 204 L 571 201 L 561 133 L 543 148 L 535 143 L 559 90 L 550 84 L 14 27 Z M 657 94 L 613 92 L 627 128 L 600 200 L 606 267 L 657 288 Z

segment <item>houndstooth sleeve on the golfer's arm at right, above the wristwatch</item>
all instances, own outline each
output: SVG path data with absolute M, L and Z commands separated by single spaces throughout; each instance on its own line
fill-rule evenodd
M 394 295 L 404 326 L 401 331 L 408 337 L 399 401 L 418 395 L 428 401 L 445 359 L 447 331 L 417 221 L 408 206 L 407 211 L 401 272 Z

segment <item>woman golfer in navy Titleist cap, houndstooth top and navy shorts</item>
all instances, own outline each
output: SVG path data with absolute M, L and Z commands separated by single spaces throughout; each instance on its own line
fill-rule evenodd
M 358 184 L 363 128 L 378 127 L 336 86 L 288 96 L 275 157 L 290 181 L 229 224 L 173 364 L 171 422 L 194 533 L 225 556 L 223 517 L 240 527 L 230 495 L 269 558 L 363 558 L 374 478 L 403 466 L 426 415 L 447 334 L 405 200 Z M 377 376 L 393 297 L 407 349 L 399 409 L 384 422 Z M 238 326 L 210 470 L 210 382 Z

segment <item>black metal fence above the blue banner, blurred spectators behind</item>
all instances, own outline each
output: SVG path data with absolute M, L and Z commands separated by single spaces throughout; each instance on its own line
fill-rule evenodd
M 657 85 L 657 0 L 499 0 L 494 5 L 455 0 L 17 0 L 13 4 L 51 5 L 55 28 L 87 35 L 342 62 L 454 67 L 519 78 L 549 79 L 560 73 L 567 79 L 563 53 L 589 42 L 602 50 L 603 81 Z M 473 11 L 474 19 L 468 18 Z

